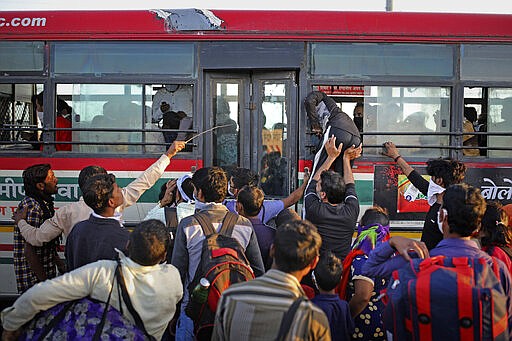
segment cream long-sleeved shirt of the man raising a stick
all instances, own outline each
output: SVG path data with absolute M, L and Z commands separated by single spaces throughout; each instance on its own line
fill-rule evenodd
M 122 188 L 123 204 L 117 207 L 116 211 L 121 213 L 125 208 L 137 202 L 140 196 L 160 179 L 169 163 L 169 157 L 162 155 L 160 159 L 146 169 L 137 179 Z M 78 202 L 65 205 L 56 210 L 55 215 L 46 220 L 38 229 L 24 220 L 21 220 L 18 226 L 27 242 L 34 246 L 41 246 L 44 242 L 54 239 L 61 233 L 64 233 L 67 237 L 73 226 L 89 219 L 91 213 L 92 209 L 80 197 Z

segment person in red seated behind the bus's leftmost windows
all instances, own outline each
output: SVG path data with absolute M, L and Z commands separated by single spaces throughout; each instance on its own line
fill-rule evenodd
M 37 117 L 43 124 L 44 118 L 44 92 L 41 91 L 38 95 L 33 97 L 33 102 L 36 106 Z M 57 98 L 57 116 L 55 117 L 55 128 L 72 128 L 71 124 L 72 109 L 69 104 L 61 98 Z M 58 130 L 55 132 L 56 142 L 71 142 L 72 132 L 70 130 Z M 43 150 L 43 145 L 39 147 Z M 71 151 L 71 144 L 57 143 L 55 144 L 57 151 Z

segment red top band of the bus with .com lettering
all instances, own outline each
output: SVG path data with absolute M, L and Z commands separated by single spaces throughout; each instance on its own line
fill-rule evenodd
M 0 39 L 512 42 L 512 15 L 198 9 L 0 12 Z

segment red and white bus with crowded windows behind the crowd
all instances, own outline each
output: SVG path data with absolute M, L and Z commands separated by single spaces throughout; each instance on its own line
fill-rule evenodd
M 426 200 L 411 196 L 394 163 L 380 155 L 388 140 L 419 169 L 432 157 L 463 160 L 468 182 L 487 199 L 509 203 L 510 60 L 511 15 L 0 12 L 0 292 L 15 290 L 10 218 L 27 166 L 52 165 L 59 207 L 78 200 L 76 178 L 86 165 L 105 167 L 123 185 L 172 136 L 229 124 L 176 156 L 126 211 L 126 222 L 144 218 L 167 178 L 203 166 L 257 170 L 266 195 L 281 197 L 311 167 L 318 141 L 302 103 L 313 89 L 349 115 L 363 112 L 364 155 L 355 163 L 362 211 L 387 207 L 394 231 L 418 231 Z M 38 94 L 42 109 L 32 101 Z M 162 102 L 192 125 L 163 122 Z M 63 104 L 65 128 L 57 124 Z M 59 138 L 62 132 L 68 138 Z

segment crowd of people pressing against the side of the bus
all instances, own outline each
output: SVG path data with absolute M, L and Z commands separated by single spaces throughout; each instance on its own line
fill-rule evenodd
M 325 98 L 310 100 L 313 110 Z M 336 108 L 323 110 L 328 119 Z M 21 296 L 1 313 L 2 340 L 34 337 L 48 320 L 58 320 L 45 320 L 44 311 L 84 298 L 107 302 L 105 311 L 119 311 L 146 339 L 510 339 L 507 210 L 463 183 L 461 162 L 428 161 L 427 181 L 387 142 L 384 155 L 430 205 L 421 241 L 391 236 L 385 209 L 371 207 L 359 218 L 351 164 L 362 145 L 357 130 L 348 143 L 358 145 L 340 143 L 347 136 L 338 130 L 324 138 L 311 179 L 282 200 L 266 200 L 252 170 L 205 167 L 165 183 L 133 232 L 123 226 L 123 210 L 157 182 L 184 142 L 174 141 L 124 188 L 104 168 L 85 167 L 78 179 L 82 197 L 59 210 L 51 166 L 27 168 L 26 197 L 13 216 Z M 301 198 L 304 219 L 288 209 Z M 65 262 L 57 253 L 62 234 Z M 449 281 L 445 268 L 455 269 L 456 278 Z M 417 292 L 417 302 L 407 288 Z M 485 291 L 473 294 L 475 288 L 488 290 L 486 309 L 473 304 Z M 84 317 L 54 322 L 45 329 L 54 334 L 45 335 L 135 338 L 124 324 L 114 328 L 107 313 L 93 323 L 86 315 L 94 309 L 62 310 Z

